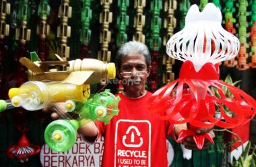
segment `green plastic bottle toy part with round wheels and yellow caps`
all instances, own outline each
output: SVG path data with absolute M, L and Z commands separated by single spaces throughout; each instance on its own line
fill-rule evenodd
M 109 123 L 117 115 L 119 96 L 114 96 L 110 90 L 105 90 L 88 99 L 84 104 L 68 100 L 65 108 L 79 114 L 78 119 L 57 120 L 50 123 L 44 131 L 44 139 L 51 149 L 56 152 L 65 152 L 75 143 L 77 129 L 90 121 Z

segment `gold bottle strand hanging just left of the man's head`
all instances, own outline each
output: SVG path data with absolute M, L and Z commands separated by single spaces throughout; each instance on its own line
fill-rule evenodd
M 110 12 L 110 5 L 112 0 L 101 0 L 100 5 L 103 9 L 100 13 L 100 24 L 102 24 L 102 30 L 100 31 L 100 44 L 101 50 L 98 52 L 98 60 L 100 61 L 110 61 L 111 52 L 108 51 L 108 43 L 111 39 L 111 32 L 109 29 L 109 24 L 112 23 L 113 13 Z

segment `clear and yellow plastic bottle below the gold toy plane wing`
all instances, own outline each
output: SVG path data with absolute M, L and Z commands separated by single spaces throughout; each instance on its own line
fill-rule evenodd
M 55 102 L 73 99 L 85 101 L 90 96 L 89 85 L 63 84 L 61 82 L 27 81 L 20 88 L 11 88 L 9 98 L 13 106 L 26 110 L 40 110 Z

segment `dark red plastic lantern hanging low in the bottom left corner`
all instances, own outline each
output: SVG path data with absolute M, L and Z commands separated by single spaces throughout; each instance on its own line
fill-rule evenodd
M 18 143 L 7 148 L 6 154 L 9 158 L 17 158 L 20 162 L 27 162 L 30 156 L 34 156 L 40 152 L 40 146 L 30 143 L 26 133 L 22 132 Z

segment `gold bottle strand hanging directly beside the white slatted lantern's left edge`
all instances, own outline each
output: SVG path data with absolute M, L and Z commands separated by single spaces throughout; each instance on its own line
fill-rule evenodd
M 177 0 L 164 1 L 164 11 L 166 12 L 166 18 L 164 18 L 164 28 L 166 29 L 166 35 L 163 37 L 163 45 L 166 46 L 168 39 L 173 35 L 174 28 L 177 26 L 177 20 L 174 17 L 174 11 L 177 9 Z M 162 82 L 167 84 L 174 80 L 174 73 L 172 72 L 172 65 L 175 60 L 172 57 L 163 55 L 163 64 L 166 65 L 166 69 L 163 75 Z

